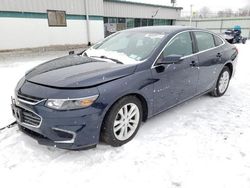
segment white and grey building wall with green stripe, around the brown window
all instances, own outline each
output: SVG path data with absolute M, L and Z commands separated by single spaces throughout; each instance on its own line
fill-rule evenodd
M 90 42 L 104 38 L 103 0 L 88 0 Z M 50 27 L 47 10 L 66 11 L 66 27 Z M 84 0 L 0 0 L 0 50 L 87 44 Z

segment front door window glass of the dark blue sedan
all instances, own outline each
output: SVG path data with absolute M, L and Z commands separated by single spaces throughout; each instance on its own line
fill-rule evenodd
M 164 49 L 163 57 L 169 55 L 187 56 L 193 53 L 192 39 L 189 32 L 177 35 Z

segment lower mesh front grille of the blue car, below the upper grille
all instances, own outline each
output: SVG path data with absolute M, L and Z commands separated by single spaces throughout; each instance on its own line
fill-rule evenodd
M 41 123 L 41 118 L 31 111 L 22 109 L 22 122 L 28 125 L 38 127 Z

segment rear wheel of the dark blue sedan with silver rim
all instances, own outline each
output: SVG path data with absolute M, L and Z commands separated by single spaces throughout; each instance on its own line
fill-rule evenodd
M 227 91 L 230 79 L 231 79 L 231 71 L 227 66 L 225 66 L 218 77 L 215 88 L 210 94 L 214 97 L 223 96 Z

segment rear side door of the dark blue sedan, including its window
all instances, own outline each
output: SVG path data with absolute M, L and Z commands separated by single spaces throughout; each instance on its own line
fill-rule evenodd
M 199 59 L 199 80 L 197 91 L 206 92 L 213 87 L 219 74 L 223 51 L 220 47 L 223 44 L 209 32 L 194 31 L 194 37 L 197 43 Z

